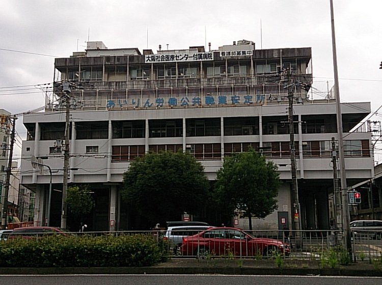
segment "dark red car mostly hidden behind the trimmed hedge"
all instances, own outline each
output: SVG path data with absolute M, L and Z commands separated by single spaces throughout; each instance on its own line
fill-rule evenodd
M 17 227 L 17 229 L 14 229 L 12 233 L 9 234 L 8 240 L 13 240 L 17 238 L 23 238 L 23 239 L 32 239 L 32 238 L 38 238 L 43 235 L 52 235 L 52 234 L 58 234 L 58 235 L 70 235 L 71 233 L 67 230 L 60 229 L 59 227 L 53 227 L 53 226 L 27 226 L 27 227 Z

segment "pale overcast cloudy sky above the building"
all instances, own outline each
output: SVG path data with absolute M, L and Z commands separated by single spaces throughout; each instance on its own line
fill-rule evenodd
M 11 113 L 44 106 L 54 58 L 85 50 L 88 39 L 141 52 L 242 39 L 257 49 L 312 47 L 314 80 L 334 77 L 330 0 L 0 0 L 0 7 L 0 109 Z M 380 0 L 334 0 L 341 101 L 370 101 L 372 112 L 382 104 L 381 13 Z M 381 115 L 382 108 L 371 120 Z M 17 132 L 25 137 L 21 118 Z M 381 163 L 380 148 L 376 155 Z

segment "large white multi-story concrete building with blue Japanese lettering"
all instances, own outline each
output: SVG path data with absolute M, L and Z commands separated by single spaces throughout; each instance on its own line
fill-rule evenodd
M 292 70 L 298 218 L 303 229 L 329 229 L 336 94 L 330 82 L 313 81 L 311 48 L 256 49 L 242 40 L 207 51 L 204 46 L 159 46 L 154 54 L 88 42 L 85 52 L 56 59 L 54 67 L 58 82 L 77 87 L 70 92 L 69 168 L 75 170 L 69 171 L 69 184 L 88 184 L 94 192 L 96 207 L 88 217 L 92 230 L 148 228 L 120 197 L 122 174 L 135 157 L 149 150 L 188 150 L 214 180 L 225 156 L 250 146 L 278 164 L 282 180 L 278 210 L 264 220 L 254 219 L 254 228 L 291 223 L 296 205 L 284 68 Z M 28 138 L 22 145 L 21 183 L 36 191 L 35 220 L 43 223 L 50 176 L 46 167 L 42 174 L 34 170 L 28 158 L 47 157 L 43 163 L 52 169 L 52 225 L 60 225 L 63 182 L 67 97 L 60 86 L 45 112 L 23 117 Z M 360 125 L 370 103 L 342 103 L 341 110 L 346 177 L 352 185 L 373 176 L 371 135 Z M 248 223 L 238 222 L 244 228 Z

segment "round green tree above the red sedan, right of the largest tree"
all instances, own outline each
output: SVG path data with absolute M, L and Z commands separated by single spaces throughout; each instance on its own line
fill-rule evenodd
M 244 211 L 252 230 L 252 217 L 265 218 L 277 209 L 279 186 L 277 166 L 251 149 L 224 159 L 217 172 L 216 200 L 231 215 Z

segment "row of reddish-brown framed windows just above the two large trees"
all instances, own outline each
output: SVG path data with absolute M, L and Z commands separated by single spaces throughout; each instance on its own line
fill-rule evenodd
M 304 141 L 303 157 L 330 157 L 331 141 Z M 88 149 L 89 148 L 89 149 Z M 270 158 L 286 158 L 290 156 L 289 141 L 272 141 L 263 143 L 263 147 L 259 147 L 259 143 L 225 143 L 224 155 L 229 156 L 233 153 L 246 152 L 253 148 L 266 157 Z M 149 151 L 159 153 L 161 151 L 177 152 L 182 149 L 181 144 L 169 145 L 149 145 Z M 295 155 L 299 156 L 298 142 L 294 145 Z M 87 147 L 88 150 L 94 151 L 94 147 Z M 97 147 L 98 150 L 98 147 Z M 186 145 L 186 151 L 192 153 L 196 159 L 209 160 L 221 159 L 221 144 L 189 144 Z M 145 154 L 145 146 L 113 146 L 112 161 L 130 161 L 135 157 Z M 368 140 L 345 140 L 344 155 L 346 157 L 369 157 L 369 141 Z

